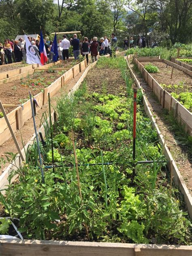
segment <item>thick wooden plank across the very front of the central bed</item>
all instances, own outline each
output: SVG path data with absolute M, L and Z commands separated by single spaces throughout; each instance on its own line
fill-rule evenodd
M 192 246 L 98 243 L 12 239 L 0 241 L 0 255 L 8 256 L 191 256 Z

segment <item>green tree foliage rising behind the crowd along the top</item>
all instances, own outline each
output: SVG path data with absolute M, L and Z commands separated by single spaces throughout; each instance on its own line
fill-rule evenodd
M 191 0 L 1 0 L 0 41 L 17 34 L 80 30 L 92 38 L 115 32 L 119 46 L 129 35 L 163 45 L 192 40 Z

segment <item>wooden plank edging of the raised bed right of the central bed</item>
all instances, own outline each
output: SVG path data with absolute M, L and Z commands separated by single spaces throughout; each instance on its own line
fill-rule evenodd
M 145 70 L 144 66 L 134 58 L 134 63 L 137 65 L 138 69 L 143 75 L 143 78 L 148 83 L 148 85 L 153 90 L 154 94 L 157 96 L 162 107 L 173 111 L 177 121 L 185 128 L 186 132 L 192 136 L 192 113 L 188 111 L 181 103 L 176 100 L 169 92 L 164 90 L 161 85 L 153 78 L 151 74 Z M 145 60 L 146 61 L 146 60 Z M 151 60 L 148 60 L 151 61 Z M 162 61 L 162 60 L 161 60 Z M 166 64 L 174 64 L 173 62 L 167 63 L 166 60 L 163 60 Z M 174 64 L 177 65 L 177 64 Z M 178 66 L 178 65 L 177 65 Z M 182 67 L 181 67 L 182 68 Z M 189 71 L 189 70 L 188 70 Z M 191 71 L 190 71 L 191 72 Z

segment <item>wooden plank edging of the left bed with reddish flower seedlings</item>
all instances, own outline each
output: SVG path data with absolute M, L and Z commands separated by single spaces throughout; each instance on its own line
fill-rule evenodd
M 50 63 L 53 64 L 53 63 Z M 49 65 L 49 64 L 48 64 Z M 38 93 L 34 96 L 36 101 L 38 102 L 39 108 L 36 108 L 36 111 L 41 109 L 43 105 L 45 105 L 48 101 L 48 93 L 50 93 L 50 96 L 54 96 L 56 92 L 64 86 L 66 83 L 68 83 L 71 79 L 73 79 L 73 76 L 79 74 L 79 65 L 81 65 L 81 70 L 83 71 L 85 69 L 85 60 L 80 62 L 79 64 L 75 65 L 77 68 L 75 69 L 75 73 L 73 72 L 73 68 L 70 68 L 68 71 L 66 71 L 62 76 L 60 76 L 57 80 L 55 80 L 51 85 L 46 87 L 43 92 Z M 46 66 L 46 65 L 45 65 Z M 54 66 L 54 65 L 53 65 Z M 28 72 L 34 72 L 34 69 L 30 71 L 26 71 L 19 75 L 28 75 Z M 17 75 L 18 76 L 18 75 Z M 10 77 L 9 79 L 13 79 L 13 77 Z M 18 79 L 18 77 L 17 77 Z M 16 109 L 13 109 L 9 114 L 7 114 L 7 117 L 9 119 L 9 122 L 11 124 L 11 127 L 13 129 L 13 132 L 16 132 L 16 130 L 20 130 L 23 124 L 32 117 L 32 111 L 31 111 L 31 105 L 30 100 L 26 101 L 22 104 L 22 106 L 17 107 Z M 11 132 L 9 131 L 8 126 L 6 125 L 4 117 L 0 118 L 0 145 L 2 145 L 5 141 L 7 141 L 9 138 L 11 138 Z

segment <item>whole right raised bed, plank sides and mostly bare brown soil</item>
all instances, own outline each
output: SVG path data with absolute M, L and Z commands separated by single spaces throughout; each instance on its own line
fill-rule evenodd
M 164 71 L 165 73 L 161 73 L 160 71 L 160 73 L 149 74 L 147 70 L 145 70 L 144 65 L 149 64 L 150 62 L 152 62 L 152 64 L 155 64 L 156 66 L 159 66 L 160 70 L 162 67 L 163 70 L 166 70 Z M 166 87 L 163 88 L 163 86 L 169 85 L 169 83 L 172 83 L 172 81 L 174 82 L 174 84 L 179 83 L 179 81 L 183 83 L 183 81 L 187 79 L 187 85 L 189 86 L 187 87 L 187 85 L 184 84 L 181 86 L 181 88 L 183 88 L 182 90 L 185 92 L 187 92 L 187 90 L 192 92 L 192 83 L 190 78 L 192 71 L 189 71 L 186 68 L 183 68 L 168 60 L 162 60 L 162 59 L 137 60 L 136 58 L 134 58 L 134 63 L 137 65 L 145 81 L 148 83 L 148 85 L 153 90 L 154 94 L 157 96 L 162 107 L 168 110 L 173 110 L 175 117 L 177 117 L 178 121 L 181 122 L 181 124 L 184 126 L 188 134 L 192 136 L 192 113 L 169 93 L 171 91 L 168 92 L 166 90 Z M 172 70 L 173 70 L 173 80 L 170 81 Z M 176 74 L 175 78 L 174 78 L 174 72 Z M 183 77 L 183 81 L 181 81 L 182 77 Z M 168 83 L 168 84 L 165 84 L 165 83 Z M 175 87 L 173 86 L 173 88 Z

